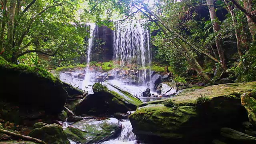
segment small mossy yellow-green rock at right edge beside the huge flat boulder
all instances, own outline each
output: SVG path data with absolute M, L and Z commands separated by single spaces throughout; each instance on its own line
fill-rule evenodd
M 256 127 L 256 92 L 244 93 L 241 95 L 242 106 L 246 109 L 249 122 Z

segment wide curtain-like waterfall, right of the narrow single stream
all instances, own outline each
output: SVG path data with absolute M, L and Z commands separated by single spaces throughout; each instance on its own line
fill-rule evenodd
M 149 30 L 134 21 L 116 22 L 113 50 L 113 61 L 116 67 L 139 70 L 138 81 L 146 86 L 147 69 L 150 71 L 151 65 Z

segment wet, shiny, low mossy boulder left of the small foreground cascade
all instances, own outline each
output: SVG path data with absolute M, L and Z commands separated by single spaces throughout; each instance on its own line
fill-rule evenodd
M 87 119 L 68 126 L 64 131 L 68 138 L 82 144 L 92 144 L 114 138 L 120 134 L 122 124 L 116 118 L 106 120 Z

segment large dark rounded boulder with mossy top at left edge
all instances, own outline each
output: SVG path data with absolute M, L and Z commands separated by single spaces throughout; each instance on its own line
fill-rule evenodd
M 0 57 L 0 99 L 22 109 L 59 114 L 68 97 L 63 83 L 43 69 L 10 64 Z

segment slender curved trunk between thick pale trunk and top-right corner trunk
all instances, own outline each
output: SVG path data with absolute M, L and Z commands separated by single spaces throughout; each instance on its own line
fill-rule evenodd
M 237 52 L 239 54 L 239 56 L 243 56 L 243 53 L 242 53 L 242 39 L 241 39 L 241 30 L 238 30 L 237 28 L 237 20 L 234 16 L 234 9 L 231 8 L 231 6 L 228 4 L 227 0 L 224 0 L 226 6 L 228 7 L 228 10 L 231 14 L 231 18 L 232 18 L 232 21 L 233 21 L 233 26 L 235 28 L 235 35 L 236 35 L 236 42 L 237 42 Z

